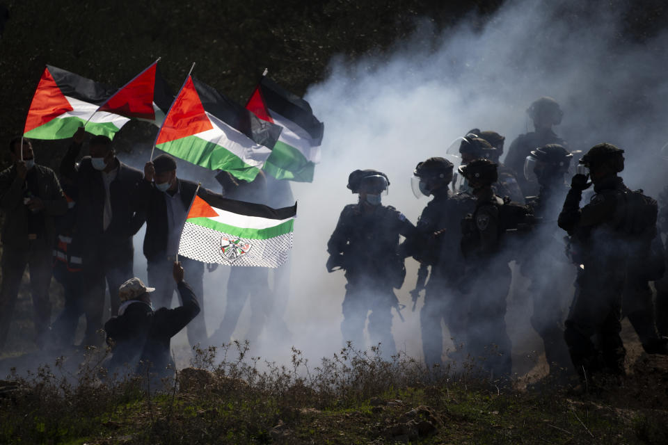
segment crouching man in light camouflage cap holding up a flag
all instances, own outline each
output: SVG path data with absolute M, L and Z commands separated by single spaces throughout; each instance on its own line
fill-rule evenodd
M 174 309 L 161 307 L 154 310 L 151 295 L 155 289 L 145 286 L 137 277 L 120 286 L 118 316 L 104 324 L 106 341 L 113 348 L 108 366 L 110 371 L 120 371 L 123 366 L 127 370 L 133 369 L 138 362 L 137 368 L 150 366 L 159 376 L 172 372 L 170 339 L 200 312 L 195 293 L 183 279 L 180 262 L 173 264 L 172 275 L 181 300 L 181 306 Z

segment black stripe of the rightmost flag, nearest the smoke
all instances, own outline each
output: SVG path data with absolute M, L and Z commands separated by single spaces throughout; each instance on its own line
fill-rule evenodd
M 260 81 L 260 88 L 262 88 L 262 97 L 270 112 L 276 111 L 283 118 L 299 125 L 311 136 L 314 145 L 320 145 L 324 124 L 313 115 L 308 102 L 285 90 L 266 76 Z

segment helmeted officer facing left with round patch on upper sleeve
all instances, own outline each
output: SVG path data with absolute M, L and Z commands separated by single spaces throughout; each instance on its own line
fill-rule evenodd
M 482 369 L 493 378 L 511 373 L 511 341 L 506 330 L 507 288 L 493 282 L 507 275 L 507 259 L 502 255 L 504 200 L 494 194 L 492 184 L 498 180 L 497 165 L 488 159 L 475 159 L 461 165 L 476 199 L 472 214 L 463 220 L 461 250 L 466 259 L 466 281 L 469 305 L 468 350 L 483 358 Z

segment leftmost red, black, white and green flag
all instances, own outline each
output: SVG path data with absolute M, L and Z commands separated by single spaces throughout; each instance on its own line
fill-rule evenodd
M 33 139 L 71 138 L 74 131 L 88 120 L 88 133 L 113 138 L 129 119 L 116 113 L 96 111 L 116 90 L 47 65 L 30 104 L 24 136 Z

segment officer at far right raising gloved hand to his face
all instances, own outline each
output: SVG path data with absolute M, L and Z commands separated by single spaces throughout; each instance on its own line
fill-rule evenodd
M 630 191 L 618 176 L 623 169 L 622 149 L 609 143 L 591 147 L 580 159 L 559 213 L 559 227 L 571 235 L 580 264 L 564 338 L 584 381 L 591 380 L 591 373 L 625 375 L 621 293 L 628 261 L 642 267 L 656 229 L 656 202 Z M 595 194 L 580 208 L 582 191 L 591 184 Z M 591 340 L 595 334 L 598 346 Z

